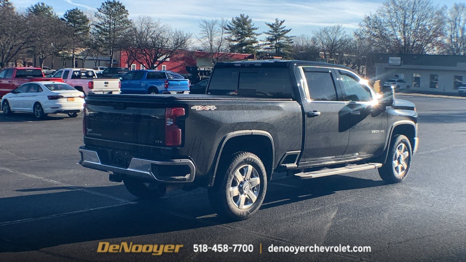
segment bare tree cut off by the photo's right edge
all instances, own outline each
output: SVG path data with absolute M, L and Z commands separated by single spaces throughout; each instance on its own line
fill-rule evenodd
M 466 5 L 454 3 L 447 10 L 445 21 L 445 53 L 448 55 L 466 55 Z

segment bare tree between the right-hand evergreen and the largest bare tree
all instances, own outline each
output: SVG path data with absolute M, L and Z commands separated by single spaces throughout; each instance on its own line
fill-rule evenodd
M 348 48 L 351 38 L 343 25 L 334 25 L 320 28 L 314 31 L 313 40 L 317 47 L 323 52 L 324 58 L 336 58 L 336 54 L 344 54 Z

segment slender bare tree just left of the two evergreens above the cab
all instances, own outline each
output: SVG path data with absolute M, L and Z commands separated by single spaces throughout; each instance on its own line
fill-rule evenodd
M 223 18 L 210 21 L 202 19 L 199 22 L 200 33 L 197 39 L 201 42 L 202 48 L 210 53 L 213 64 L 228 58 L 231 41 L 226 39 L 227 25 L 228 21 Z

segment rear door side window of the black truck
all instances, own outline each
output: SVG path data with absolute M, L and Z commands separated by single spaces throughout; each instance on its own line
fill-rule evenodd
M 335 82 L 332 75 L 327 72 L 305 71 L 309 96 L 314 101 L 337 101 Z

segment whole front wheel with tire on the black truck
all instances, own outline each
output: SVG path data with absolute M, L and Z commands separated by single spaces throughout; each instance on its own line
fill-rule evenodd
M 391 140 L 387 160 L 378 172 L 385 182 L 399 183 L 408 175 L 411 166 L 411 143 L 404 135 L 395 135 Z

